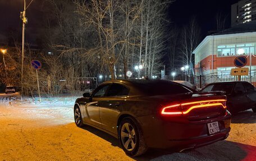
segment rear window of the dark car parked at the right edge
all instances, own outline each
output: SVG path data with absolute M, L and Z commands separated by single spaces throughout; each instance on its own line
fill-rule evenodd
M 203 92 L 207 92 L 207 91 L 225 91 L 226 94 L 231 94 L 233 87 L 234 87 L 233 83 L 212 84 L 212 85 L 208 85 L 202 91 Z

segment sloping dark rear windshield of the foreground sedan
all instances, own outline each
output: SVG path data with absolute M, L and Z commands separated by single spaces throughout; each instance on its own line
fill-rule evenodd
M 193 92 L 189 88 L 171 81 L 136 82 L 136 86 L 147 95 L 173 95 Z

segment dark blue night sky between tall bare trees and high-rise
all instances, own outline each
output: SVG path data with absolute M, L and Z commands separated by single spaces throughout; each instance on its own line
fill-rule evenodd
M 188 24 L 192 16 L 195 16 L 202 30 L 202 38 L 208 31 L 216 30 L 216 13 L 227 15 L 226 27 L 231 26 L 231 4 L 238 0 L 177 0 L 171 4 L 168 16 L 173 23 L 181 27 Z

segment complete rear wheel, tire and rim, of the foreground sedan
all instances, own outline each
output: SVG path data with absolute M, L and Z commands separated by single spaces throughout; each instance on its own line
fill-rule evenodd
M 118 139 L 122 149 L 131 157 L 142 155 L 148 150 L 139 123 L 132 117 L 122 119 Z

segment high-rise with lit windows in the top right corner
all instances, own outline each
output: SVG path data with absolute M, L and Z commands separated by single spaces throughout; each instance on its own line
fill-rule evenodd
M 231 6 L 231 26 L 256 20 L 256 0 L 240 0 Z

